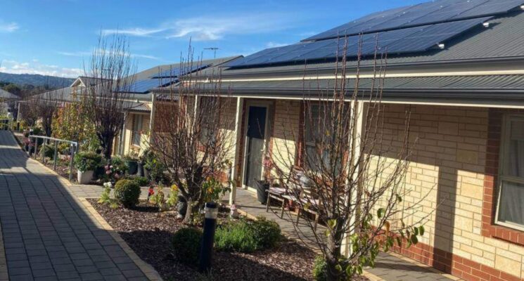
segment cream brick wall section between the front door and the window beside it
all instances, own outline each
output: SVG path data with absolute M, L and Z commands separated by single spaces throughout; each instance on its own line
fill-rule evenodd
M 300 101 L 276 100 L 271 154 L 284 172 L 295 164 L 300 124 Z

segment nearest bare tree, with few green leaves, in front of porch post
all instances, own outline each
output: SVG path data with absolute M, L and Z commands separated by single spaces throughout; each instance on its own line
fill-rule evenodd
M 399 138 L 392 140 L 384 134 L 385 65 L 385 57 L 376 54 L 373 75 L 366 81 L 370 87 L 364 91 L 359 89 L 359 67 L 357 78 L 348 79 L 343 56 L 336 62 L 331 86 L 324 91 L 319 81 L 318 95 L 305 94 L 300 113 L 303 122 L 284 137 L 301 145 L 273 145 L 267 156 L 272 173 L 280 178 L 295 207 L 316 214 L 326 224 L 325 231 L 317 231 L 314 219 L 303 220 L 326 259 L 328 280 L 362 274 L 363 266 L 373 266 L 379 249 L 416 243 L 424 232 L 423 226 L 415 226 L 420 222 L 405 219 L 416 204 L 405 207 L 401 203 L 409 192 L 404 186 L 413 144 L 409 141 L 409 111 Z M 307 83 L 315 84 L 304 80 Z M 281 126 L 289 128 L 289 124 Z M 298 162 L 290 155 L 300 155 Z M 303 237 L 296 218 L 289 214 L 287 218 Z

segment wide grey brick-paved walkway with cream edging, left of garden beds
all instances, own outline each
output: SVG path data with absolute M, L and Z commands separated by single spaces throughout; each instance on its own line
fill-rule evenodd
M 147 280 L 76 192 L 0 131 L 0 280 Z

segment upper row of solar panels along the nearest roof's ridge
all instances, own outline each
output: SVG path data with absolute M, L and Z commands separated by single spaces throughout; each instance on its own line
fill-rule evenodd
M 302 41 L 318 41 L 507 13 L 524 0 L 440 0 L 366 15 Z

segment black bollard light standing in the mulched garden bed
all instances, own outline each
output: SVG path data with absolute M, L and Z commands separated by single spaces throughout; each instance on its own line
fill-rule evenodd
M 208 273 L 211 268 L 215 228 L 217 228 L 217 215 L 217 203 L 205 203 L 204 235 L 200 246 L 200 264 L 198 265 L 198 270 L 201 273 Z

